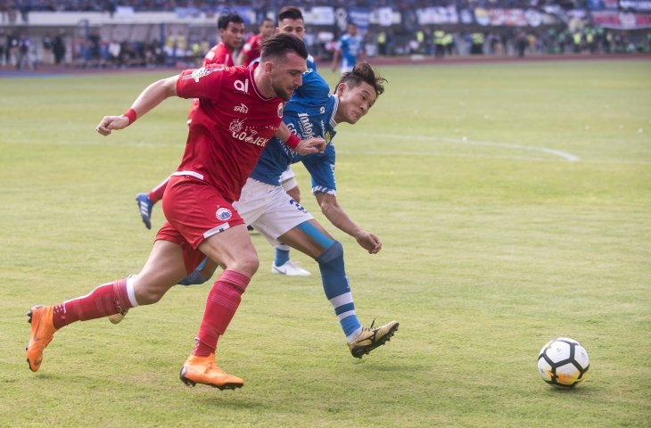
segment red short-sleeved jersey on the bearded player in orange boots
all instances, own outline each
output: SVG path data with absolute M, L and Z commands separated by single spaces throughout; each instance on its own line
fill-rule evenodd
M 185 70 L 177 95 L 199 98 L 173 175 L 193 176 L 213 185 L 227 201 L 237 201 L 246 178 L 283 119 L 284 101 L 260 95 L 251 67 L 209 65 Z

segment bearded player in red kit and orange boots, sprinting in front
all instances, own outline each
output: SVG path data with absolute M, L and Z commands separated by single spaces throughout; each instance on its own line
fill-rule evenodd
M 170 96 L 200 98 L 190 125 L 185 153 L 163 197 L 168 220 L 136 276 L 103 284 L 92 292 L 29 311 L 29 368 L 36 372 L 54 333 L 75 321 L 117 314 L 149 305 L 208 257 L 224 271 L 210 289 L 194 350 L 181 380 L 219 389 L 243 380 L 217 366 L 218 337 L 235 316 L 242 294 L 259 266 L 243 219 L 233 208 L 268 139 L 283 117 L 284 101 L 301 86 L 308 52 L 297 37 L 279 34 L 262 45 L 260 63 L 251 67 L 207 66 L 185 70 L 144 89 L 121 116 L 105 116 L 96 130 L 103 136 L 127 128 Z M 242 109 L 246 106 L 246 109 Z M 295 143 L 295 140 L 293 140 Z M 289 144 L 299 153 L 318 152 L 325 141 L 310 138 Z

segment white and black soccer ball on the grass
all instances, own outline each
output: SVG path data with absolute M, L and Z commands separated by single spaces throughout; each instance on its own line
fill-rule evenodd
M 588 352 L 568 337 L 549 341 L 538 354 L 538 373 L 556 388 L 572 388 L 583 382 L 590 368 Z

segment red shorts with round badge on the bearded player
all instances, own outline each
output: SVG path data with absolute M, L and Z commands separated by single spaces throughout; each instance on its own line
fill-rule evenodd
M 156 240 L 181 247 L 188 273 L 206 258 L 197 250 L 203 240 L 228 227 L 244 224 L 231 202 L 199 178 L 170 177 L 162 202 L 167 221 L 156 234 Z

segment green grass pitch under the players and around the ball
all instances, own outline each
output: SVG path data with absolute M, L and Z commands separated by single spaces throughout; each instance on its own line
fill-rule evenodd
M 0 79 L 0 426 L 651 425 L 651 62 L 381 72 L 385 95 L 335 143 L 339 200 L 383 251 L 334 230 L 295 170 L 344 245 L 358 316 L 400 331 L 351 358 L 318 275 L 272 276 L 252 235 L 260 271 L 218 350 L 239 391 L 178 381 L 208 285 L 70 325 L 29 371 L 30 306 L 144 264 L 155 231 L 134 195 L 176 169 L 189 103 L 102 137 L 165 74 Z M 572 391 L 536 369 L 561 335 L 590 357 Z

